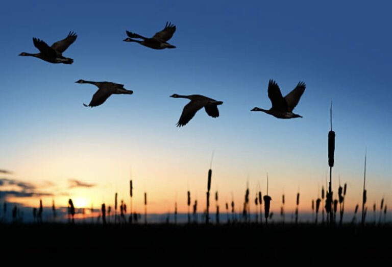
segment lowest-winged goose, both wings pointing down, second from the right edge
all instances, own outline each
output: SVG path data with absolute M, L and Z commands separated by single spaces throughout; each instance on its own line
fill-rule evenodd
M 190 100 L 190 102 L 186 104 L 184 109 L 182 110 L 182 114 L 177 123 L 177 127 L 186 125 L 189 120 L 193 118 L 194 114 L 196 114 L 196 112 L 198 112 L 198 110 L 203 107 L 209 116 L 213 118 L 219 117 L 219 110 L 217 106 L 223 104 L 222 101 L 216 101 L 200 94 L 179 95 L 175 93 L 173 95 L 170 95 L 170 98 L 186 98 Z

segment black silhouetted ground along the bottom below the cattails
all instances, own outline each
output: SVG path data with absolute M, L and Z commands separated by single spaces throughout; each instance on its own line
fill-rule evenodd
M 0 225 L 1 251 L 24 254 L 137 256 L 145 263 L 281 263 L 392 259 L 392 226 L 236 225 Z M 382 241 L 385 241 L 385 245 Z M 186 262 L 184 262 L 186 263 Z

